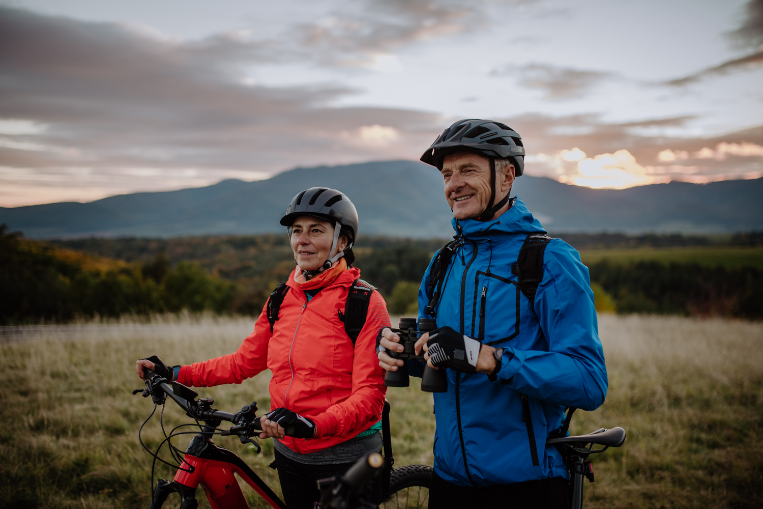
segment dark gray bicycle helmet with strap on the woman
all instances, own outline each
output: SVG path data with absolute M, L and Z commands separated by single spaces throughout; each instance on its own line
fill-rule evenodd
M 291 198 L 291 203 L 286 208 L 286 214 L 281 218 L 281 224 L 288 227 L 290 237 L 291 225 L 294 224 L 295 218 L 304 215 L 319 217 L 335 224 L 330 253 L 333 253 L 333 250 L 336 249 L 336 243 L 339 242 L 341 227 L 350 230 L 353 235 L 344 249 L 349 250 L 353 247 L 353 242 L 358 235 L 358 211 L 353 202 L 349 201 L 349 198 L 343 193 L 336 191 L 336 189 L 314 187 L 305 189 Z M 341 227 L 336 227 L 336 224 L 340 224 Z M 327 259 L 323 266 L 311 272 L 317 274 L 330 269 L 333 263 L 342 256 L 344 256 L 344 250 Z

